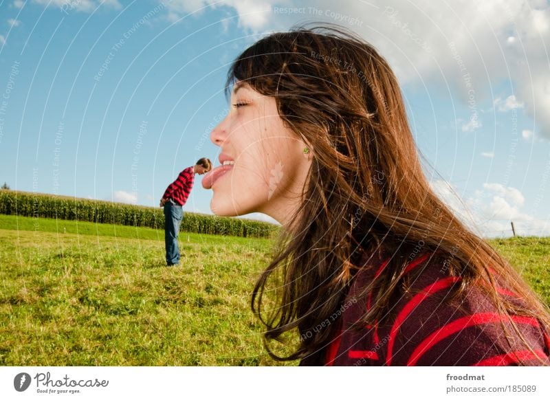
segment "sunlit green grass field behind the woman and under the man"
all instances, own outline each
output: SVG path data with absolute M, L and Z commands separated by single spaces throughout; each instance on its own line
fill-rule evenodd
M 0 364 L 281 365 L 249 305 L 273 242 L 182 232 L 167 268 L 159 233 L 0 215 Z M 550 304 L 550 239 L 492 244 Z

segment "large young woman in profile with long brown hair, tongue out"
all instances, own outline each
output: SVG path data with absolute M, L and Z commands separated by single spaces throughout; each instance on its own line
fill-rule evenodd
M 236 59 L 231 85 L 211 134 L 222 165 L 202 182 L 215 214 L 283 225 L 252 296 L 272 357 L 550 365 L 547 307 L 434 195 L 371 45 L 326 27 L 271 34 Z M 296 347 L 274 351 L 289 334 Z

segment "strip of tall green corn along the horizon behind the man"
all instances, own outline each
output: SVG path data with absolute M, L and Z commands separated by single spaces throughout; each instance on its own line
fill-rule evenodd
M 16 190 L 0 190 L 0 214 L 164 229 L 162 208 Z M 278 227 L 250 219 L 184 212 L 180 229 L 199 234 L 261 238 L 271 237 Z

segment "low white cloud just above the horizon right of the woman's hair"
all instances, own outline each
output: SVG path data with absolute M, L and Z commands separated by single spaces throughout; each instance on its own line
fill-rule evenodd
M 549 220 L 537 219 L 522 210 L 525 197 L 516 188 L 487 183 L 463 199 L 445 181 L 432 181 L 430 186 L 465 225 L 481 236 L 511 236 L 512 221 L 520 236 L 550 234 Z

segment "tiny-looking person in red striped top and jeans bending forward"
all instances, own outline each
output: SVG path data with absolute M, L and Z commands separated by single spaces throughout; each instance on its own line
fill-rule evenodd
M 166 265 L 179 265 L 179 247 L 177 246 L 177 235 L 179 224 L 184 217 L 182 207 L 186 203 L 189 193 L 195 181 L 195 174 L 203 175 L 212 168 L 208 158 L 201 158 L 197 164 L 185 168 L 179 173 L 164 191 L 160 200 L 160 206 L 164 207 L 164 241 L 166 244 Z

